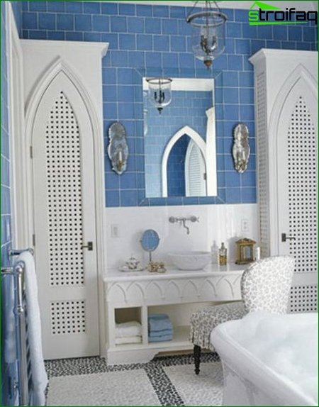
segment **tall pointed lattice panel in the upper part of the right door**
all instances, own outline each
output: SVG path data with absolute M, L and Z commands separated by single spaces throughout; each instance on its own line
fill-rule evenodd
M 288 130 L 290 254 L 297 272 L 317 272 L 317 143 L 303 97 L 291 115 Z

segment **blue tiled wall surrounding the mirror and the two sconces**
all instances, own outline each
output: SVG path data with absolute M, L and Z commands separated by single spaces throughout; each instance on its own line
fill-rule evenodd
M 19 2 L 17 2 L 19 3 Z M 226 48 L 213 69 L 223 71 L 216 84 L 218 196 L 215 198 L 145 199 L 142 109 L 132 94 L 134 68 L 203 69 L 191 52 L 190 8 L 91 1 L 23 1 L 23 37 L 108 42 L 103 59 L 104 140 L 114 121 L 128 130 L 128 172 L 118 176 L 106 157 L 106 205 L 150 206 L 256 202 L 253 71 L 248 58 L 260 48 L 317 50 L 317 27 L 249 26 L 246 10 L 225 9 Z M 47 16 L 45 17 L 45 14 Z M 53 28 L 53 22 L 56 27 Z M 123 89 L 126 88 L 126 89 Z M 138 106 L 136 106 L 138 105 Z M 239 121 L 250 128 L 252 157 L 245 174 L 233 169 L 232 131 Z

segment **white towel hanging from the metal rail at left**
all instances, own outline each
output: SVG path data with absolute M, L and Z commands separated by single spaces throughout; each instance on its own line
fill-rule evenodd
M 23 252 L 18 257 L 25 264 L 26 301 L 28 307 L 28 340 L 33 381 L 33 406 L 45 405 L 47 374 L 43 361 L 38 282 L 35 274 L 33 255 Z

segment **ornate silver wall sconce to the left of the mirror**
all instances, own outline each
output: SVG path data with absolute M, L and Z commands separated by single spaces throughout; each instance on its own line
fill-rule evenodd
M 113 123 L 108 129 L 108 157 L 116 174 L 123 174 L 128 161 L 128 143 L 126 143 L 125 127 L 121 123 Z

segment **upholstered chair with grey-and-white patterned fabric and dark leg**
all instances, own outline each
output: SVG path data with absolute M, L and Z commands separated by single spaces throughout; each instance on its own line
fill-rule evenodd
M 211 331 L 220 323 L 240 319 L 252 311 L 287 313 L 295 261 L 274 256 L 250 264 L 240 281 L 242 301 L 208 306 L 191 316 L 195 372 L 199 373 L 201 349 L 213 350 Z

